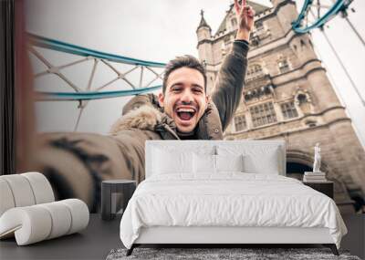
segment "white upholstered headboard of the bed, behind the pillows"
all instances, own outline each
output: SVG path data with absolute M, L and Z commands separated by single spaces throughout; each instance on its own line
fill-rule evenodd
M 191 151 L 206 154 L 243 154 L 247 172 L 277 172 L 286 176 L 285 140 L 147 140 L 145 144 L 145 174 L 152 175 L 153 154 L 157 150 Z M 274 163 L 272 163 L 274 162 Z M 276 169 L 274 169 L 276 168 Z M 257 169 L 265 169 L 260 172 Z

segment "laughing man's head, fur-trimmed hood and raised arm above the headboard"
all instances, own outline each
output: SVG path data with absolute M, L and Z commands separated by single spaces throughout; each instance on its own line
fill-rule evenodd
M 222 140 L 242 96 L 250 32 L 255 11 L 235 0 L 239 21 L 232 51 L 224 58 L 212 97 L 206 95 L 206 74 L 195 57 L 172 59 L 166 66 L 162 93 L 140 95 L 123 108 L 123 117 L 112 127 L 119 135 L 126 129 L 151 130 L 151 139 Z

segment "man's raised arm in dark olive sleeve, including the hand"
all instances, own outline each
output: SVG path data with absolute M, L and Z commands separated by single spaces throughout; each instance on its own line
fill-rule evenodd
M 238 20 L 235 42 L 231 53 L 224 59 L 212 94 L 223 130 L 232 120 L 235 109 L 241 101 L 247 68 L 248 41 L 254 27 L 255 11 L 251 6 L 246 5 L 246 0 L 242 0 L 242 5 L 235 0 L 235 14 Z

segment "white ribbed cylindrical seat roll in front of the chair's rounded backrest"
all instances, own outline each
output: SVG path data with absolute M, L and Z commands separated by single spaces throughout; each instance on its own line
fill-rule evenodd
M 73 234 L 89 224 L 89 209 L 78 199 L 16 207 L 0 217 L 0 238 L 16 235 L 18 245 Z

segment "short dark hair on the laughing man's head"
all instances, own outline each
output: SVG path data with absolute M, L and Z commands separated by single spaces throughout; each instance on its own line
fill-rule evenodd
M 172 71 L 184 67 L 193 68 L 202 73 L 204 78 L 204 91 L 206 92 L 206 72 L 203 64 L 196 57 L 193 57 L 191 55 L 184 55 L 170 60 L 169 63 L 166 65 L 163 75 L 162 93 L 165 93 L 166 91 L 167 79 L 169 78 Z

